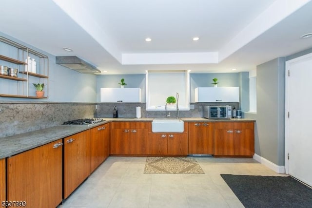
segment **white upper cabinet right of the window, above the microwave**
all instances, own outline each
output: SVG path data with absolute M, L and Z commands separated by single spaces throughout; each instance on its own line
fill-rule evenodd
M 197 87 L 195 102 L 239 102 L 239 87 Z

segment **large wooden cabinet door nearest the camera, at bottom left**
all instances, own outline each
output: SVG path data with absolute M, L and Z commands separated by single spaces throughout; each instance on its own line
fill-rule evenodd
M 62 140 L 7 158 L 7 201 L 55 208 L 62 201 Z

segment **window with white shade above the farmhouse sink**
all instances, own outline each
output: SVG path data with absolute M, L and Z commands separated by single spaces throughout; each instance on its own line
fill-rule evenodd
M 179 110 L 190 110 L 190 76 L 187 71 L 148 71 L 146 73 L 146 110 L 165 110 L 166 99 L 178 93 Z M 168 105 L 169 111 L 176 110 Z

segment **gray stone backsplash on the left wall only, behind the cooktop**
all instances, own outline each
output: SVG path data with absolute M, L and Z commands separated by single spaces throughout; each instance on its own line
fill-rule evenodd
M 92 118 L 95 104 L 0 103 L 0 137 L 58 126 L 64 121 Z

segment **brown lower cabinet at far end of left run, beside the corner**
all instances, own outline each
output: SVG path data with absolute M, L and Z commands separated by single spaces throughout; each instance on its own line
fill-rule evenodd
M 91 131 L 91 172 L 93 172 L 109 155 L 110 124 L 104 124 Z

